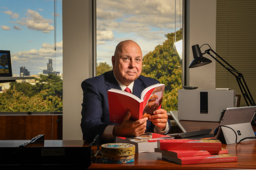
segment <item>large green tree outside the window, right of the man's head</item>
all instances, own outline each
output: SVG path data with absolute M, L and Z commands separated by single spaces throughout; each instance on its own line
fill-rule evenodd
M 178 89 L 182 89 L 182 61 L 174 48 L 174 36 L 174 33 L 166 34 L 165 42 L 143 57 L 142 75 L 165 84 L 162 107 L 167 111 L 178 110 Z M 180 39 L 182 30 L 176 32 L 176 41 Z

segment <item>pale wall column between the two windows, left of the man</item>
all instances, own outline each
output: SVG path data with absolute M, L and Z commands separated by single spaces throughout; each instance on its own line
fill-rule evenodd
M 81 140 L 81 82 L 92 77 L 92 2 L 62 0 L 63 139 Z

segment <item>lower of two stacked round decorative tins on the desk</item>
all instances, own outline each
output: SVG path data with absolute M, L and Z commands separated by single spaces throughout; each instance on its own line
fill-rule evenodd
M 129 156 L 106 156 L 102 155 L 101 160 L 103 163 L 132 163 L 134 162 L 135 155 Z

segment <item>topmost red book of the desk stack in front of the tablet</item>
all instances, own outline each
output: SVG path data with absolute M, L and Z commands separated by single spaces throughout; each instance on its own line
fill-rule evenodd
M 218 139 L 172 139 L 157 141 L 157 148 L 160 150 L 206 150 L 220 151 L 221 142 Z

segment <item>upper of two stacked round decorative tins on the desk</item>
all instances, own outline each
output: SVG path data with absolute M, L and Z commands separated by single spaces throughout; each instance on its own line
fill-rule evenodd
M 104 156 L 130 156 L 135 154 L 135 145 L 128 143 L 107 143 L 101 145 Z

